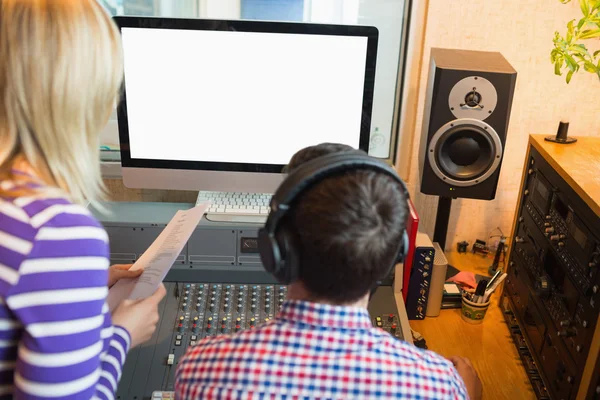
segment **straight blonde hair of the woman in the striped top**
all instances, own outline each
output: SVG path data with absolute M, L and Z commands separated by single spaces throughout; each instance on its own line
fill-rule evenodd
M 104 197 L 99 134 L 118 101 L 122 57 L 96 0 L 0 0 L 0 181 L 21 162 L 72 201 Z

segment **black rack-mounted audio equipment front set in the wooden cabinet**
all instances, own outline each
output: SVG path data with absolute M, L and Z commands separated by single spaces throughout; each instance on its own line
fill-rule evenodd
M 577 398 L 600 296 L 600 218 L 531 148 L 502 307 L 538 398 Z

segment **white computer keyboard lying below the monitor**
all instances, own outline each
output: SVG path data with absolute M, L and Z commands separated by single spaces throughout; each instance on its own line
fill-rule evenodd
M 221 222 L 264 223 L 269 215 L 271 194 L 243 192 L 198 192 L 196 204 L 209 201 L 206 218 Z

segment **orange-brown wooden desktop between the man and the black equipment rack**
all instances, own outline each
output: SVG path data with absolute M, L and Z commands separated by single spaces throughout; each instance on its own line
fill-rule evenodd
M 487 275 L 492 259 L 472 253 L 446 254 L 451 265 L 461 271 Z M 484 322 L 469 325 L 461 319 L 460 309 L 442 310 L 435 318 L 410 321 L 421 333 L 427 347 L 445 357 L 469 357 L 483 384 L 486 399 L 535 399 L 529 379 L 512 343 L 508 327 L 498 306 L 501 290 L 492 298 Z

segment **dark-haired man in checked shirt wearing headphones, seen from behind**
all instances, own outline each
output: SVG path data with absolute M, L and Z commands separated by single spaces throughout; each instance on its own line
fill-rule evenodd
M 178 398 L 478 399 L 468 360 L 372 326 L 370 293 L 407 249 L 408 192 L 396 171 L 324 143 L 296 153 L 287 172 L 258 241 L 288 297 L 274 320 L 190 348 Z

